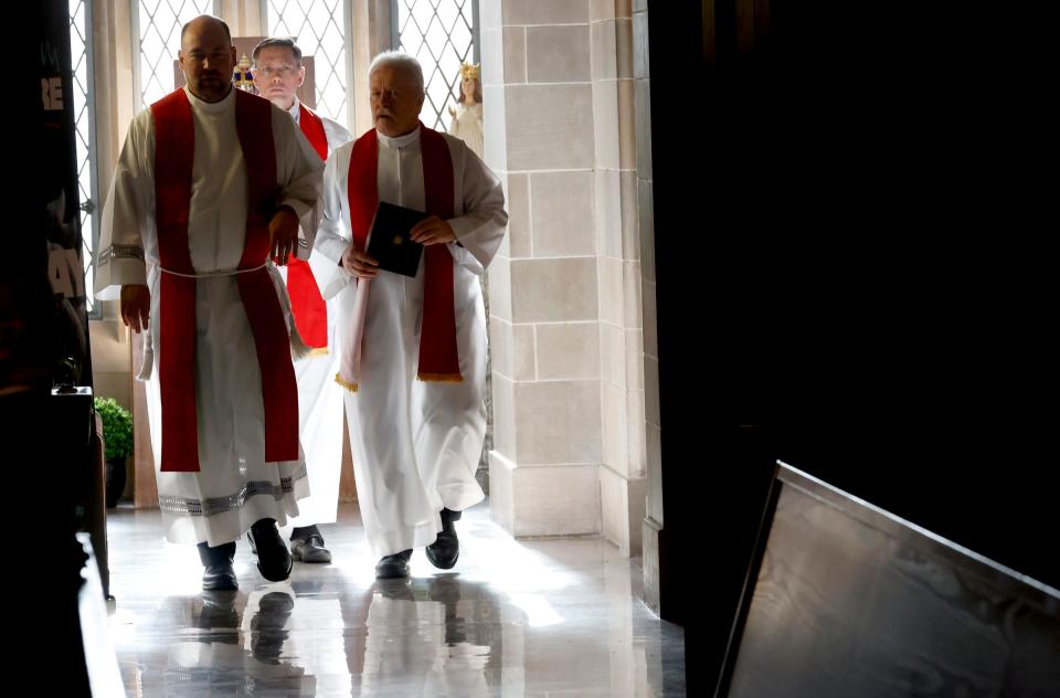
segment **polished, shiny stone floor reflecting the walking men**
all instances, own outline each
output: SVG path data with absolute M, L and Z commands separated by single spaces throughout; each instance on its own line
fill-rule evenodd
M 157 511 L 112 509 L 108 635 L 129 696 L 685 695 L 681 628 L 640 601 L 637 560 L 598 538 L 516 541 L 485 505 L 447 572 L 377 582 L 357 505 L 322 527 L 331 564 L 265 581 L 245 542 L 237 592 L 203 592 Z

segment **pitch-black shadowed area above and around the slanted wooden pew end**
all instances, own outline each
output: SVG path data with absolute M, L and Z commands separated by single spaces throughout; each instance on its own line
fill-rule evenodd
M 713 689 L 776 458 L 1060 585 L 1032 19 L 648 9 L 660 577 L 690 691 Z

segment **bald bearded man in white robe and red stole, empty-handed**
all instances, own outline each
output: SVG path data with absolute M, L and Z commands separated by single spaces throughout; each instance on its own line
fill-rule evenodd
M 120 286 L 144 366 L 166 539 L 198 543 L 204 590 L 237 589 L 235 541 L 288 578 L 277 524 L 308 478 L 293 351 L 305 351 L 275 264 L 298 252 L 324 163 L 286 114 L 232 85 L 227 25 L 181 31 L 188 84 L 136 116 L 103 210 L 95 290 Z M 275 264 L 274 264 L 275 261 Z

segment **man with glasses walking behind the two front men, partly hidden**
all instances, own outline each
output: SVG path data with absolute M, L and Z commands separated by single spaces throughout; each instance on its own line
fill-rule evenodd
M 318 115 L 298 99 L 297 89 L 306 80 L 301 49 L 294 39 L 271 36 L 254 47 L 254 84 L 258 94 L 288 113 L 320 157 L 353 139 L 338 123 Z M 316 230 L 299 231 L 298 244 L 308 255 Z M 330 562 L 318 524 L 333 524 L 339 506 L 339 476 L 342 469 L 342 389 L 335 382 L 339 352 L 335 347 L 336 300 L 320 296 L 318 278 L 327 279 L 332 263 L 322 255 L 308 261 L 293 258 L 280 275 L 290 295 L 295 324 L 303 340 L 312 348 L 295 363 L 298 382 L 299 434 L 309 470 L 309 497 L 298 503 L 298 516 L 289 520 L 290 553 L 301 562 Z

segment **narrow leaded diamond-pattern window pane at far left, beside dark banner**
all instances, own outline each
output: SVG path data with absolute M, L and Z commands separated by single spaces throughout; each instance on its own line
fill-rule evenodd
M 95 298 L 92 295 L 92 286 L 95 276 L 95 265 L 93 264 L 92 251 L 95 247 L 94 215 L 92 191 L 94 170 L 91 158 L 91 144 L 93 138 L 92 119 L 88 113 L 88 42 L 85 22 L 85 0 L 68 0 L 70 8 L 70 56 L 74 72 L 74 129 L 77 134 L 75 142 L 77 152 L 77 189 L 81 210 L 81 232 L 82 245 L 81 261 L 85 265 L 85 302 L 87 309 L 92 313 L 95 306 Z M 86 205 L 88 204 L 88 205 Z

